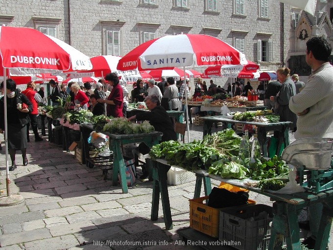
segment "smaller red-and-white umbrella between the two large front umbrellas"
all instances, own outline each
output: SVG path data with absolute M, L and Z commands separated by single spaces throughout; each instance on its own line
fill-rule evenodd
M 97 55 L 91 57 L 93 68 L 89 71 L 79 72 L 94 72 L 95 77 L 104 77 L 111 72 L 118 72 L 117 65 L 121 56 L 116 55 Z

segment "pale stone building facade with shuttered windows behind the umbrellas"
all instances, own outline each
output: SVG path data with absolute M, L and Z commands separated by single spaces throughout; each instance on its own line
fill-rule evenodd
M 290 17 L 290 6 L 277 0 L 0 0 L 0 24 L 39 29 L 89 56 L 122 56 L 183 32 L 217 37 L 273 70 L 293 42 Z

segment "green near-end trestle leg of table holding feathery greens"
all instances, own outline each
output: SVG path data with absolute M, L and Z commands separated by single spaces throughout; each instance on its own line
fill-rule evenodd
M 126 172 L 125 172 L 125 163 L 120 152 L 120 144 L 118 141 L 114 144 L 114 160 L 113 160 L 113 171 L 112 171 L 112 184 L 116 186 L 118 184 L 118 173 L 121 178 L 121 189 L 122 193 L 127 194 L 127 182 L 126 182 Z

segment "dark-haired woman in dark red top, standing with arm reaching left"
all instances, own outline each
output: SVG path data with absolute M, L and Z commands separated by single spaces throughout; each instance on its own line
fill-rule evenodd
M 98 99 L 98 102 L 107 103 L 106 114 L 107 116 L 123 117 L 122 115 L 122 88 L 119 85 L 118 75 L 110 73 L 105 75 L 105 80 L 113 87 L 107 100 Z

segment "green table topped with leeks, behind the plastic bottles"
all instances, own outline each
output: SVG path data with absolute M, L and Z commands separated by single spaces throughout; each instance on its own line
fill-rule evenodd
M 227 123 L 227 124 L 246 124 L 246 125 L 255 125 L 257 126 L 257 134 L 258 141 L 262 147 L 262 153 L 264 157 L 267 157 L 267 132 L 278 130 L 279 138 L 278 138 L 278 147 L 276 152 L 280 152 L 282 143 L 284 143 L 285 147 L 289 145 L 289 126 L 291 122 L 279 122 L 279 123 L 259 123 L 259 122 L 247 122 L 247 121 L 237 121 L 228 119 L 227 116 L 205 116 L 201 117 L 204 120 L 204 128 L 203 128 L 203 136 L 207 134 L 212 134 L 212 126 L 213 123 Z

